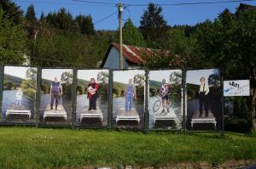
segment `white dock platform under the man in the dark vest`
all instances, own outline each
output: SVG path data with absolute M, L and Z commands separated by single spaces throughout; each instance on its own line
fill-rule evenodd
M 63 117 L 67 121 L 67 111 L 64 109 L 63 105 L 58 105 L 58 109 L 50 110 L 48 105 L 44 111 L 44 120 L 46 117 Z

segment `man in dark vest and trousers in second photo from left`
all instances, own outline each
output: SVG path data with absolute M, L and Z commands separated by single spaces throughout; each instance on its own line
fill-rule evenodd
M 50 85 L 50 110 L 53 110 L 53 104 L 55 102 L 55 110 L 58 108 L 59 98 L 62 94 L 61 82 L 58 82 L 58 78 L 55 77 L 55 81 Z

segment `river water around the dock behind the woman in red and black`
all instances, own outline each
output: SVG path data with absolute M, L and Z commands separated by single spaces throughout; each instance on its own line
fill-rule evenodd
M 103 121 L 100 121 L 99 118 L 87 118 L 80 121 L 80 114 L 84 108 L 88 109 L 89 99 L 87 99 L 87 94 L 77 96 L 77 107 L 76 107 L 76 124 L 80 126 L 108 126 L 108 99 L 102 97 L 102 94 L 99 94 L 99 97 L 96 101 L 96 107 L 98 107 L 103 114 Z

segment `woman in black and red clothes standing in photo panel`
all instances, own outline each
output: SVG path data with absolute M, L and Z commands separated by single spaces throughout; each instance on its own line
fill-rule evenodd
M 90 79 L 90 82 L 87 86 L 87 98 L 89 101 L 89 111 L 96 111 L 96 99 L 98 98 L 98 89 L 99 85 L 95 82 L 94 78 Z

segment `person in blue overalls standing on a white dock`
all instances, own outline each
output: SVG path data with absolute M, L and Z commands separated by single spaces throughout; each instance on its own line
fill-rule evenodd
M 136 87 L 132 83 L 132 79 L 129 79 L 128 84 L 125 87 L 125 111 L 131 111 L 131 104 L 133 99 L 137 99 Z

